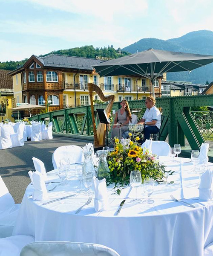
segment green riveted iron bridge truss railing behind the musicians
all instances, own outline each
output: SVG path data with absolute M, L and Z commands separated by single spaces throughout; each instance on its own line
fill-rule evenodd
M 144 112 L 144 100 L 128 102 L 130 109 L 141 118 Z M 98 126 L 97 108 L 106 108 L 107 104 L 94 105 L 95 122 Z M 211 111 L 206 113 L 190 112 L 191 107 L 213 106 L 213 95 L 177 96 L 157 98 L 156 107 L 161 109 L 163 120 L 161 123 L 160 140 L 166 140 L 170 146 L 176 143 L 185 146 L 185 138 L 192 149 L 200 149 L 205 139 L 212 134 L 213 121 Z M 118 110 L 120 103 L 115 102 L 112 110 Z M 29 118 L 30 120 L 53 122 L 54 134 L 84 138 L 92 140 L 92 115 L 90 106 L 66 108 L 59 111 L 43 113 Z M 204 139 L 205 138 L 205 139 Z

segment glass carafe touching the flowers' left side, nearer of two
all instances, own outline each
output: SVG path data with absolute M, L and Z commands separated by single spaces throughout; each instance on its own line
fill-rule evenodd
M 98 163 L 98 169 L 97 169 L 97 178 L 98 180 L 103 180 L 104 178 L 109 178 L 109 167 L 107 164 L 107 150 L 98 150 L 98 157 L 99 157 L 99 163 Z

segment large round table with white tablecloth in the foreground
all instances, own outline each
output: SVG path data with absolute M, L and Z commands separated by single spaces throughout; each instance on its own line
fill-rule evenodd
M 121 256 L 202 256 L 204 247 L 213 241 L 213 201 L 201 201 L 196 184 L 199 175 L 192 172 L 187 158 L 171 163 L 170 157 L 161 157 L 174 184 L 155 186 L 153 204 L 131 204 L 135 189 L 130 187 L 115 195 L 108 188 L 109 209 L 95 212 L 94 199 L 81 212 L 75 211 L 86 203 L 88 195 L 74 197 L 42 206 L 44 202 L 76 192 L 79 181 L 69 173 L 69 185 L 57 186 L 48 192 L 49 198 L 33 201 L 33 186 L 26 189 L 13 235 L 35 236 L 35 241 L 73 241 L 103 244 Z M 213 166 L 209 163 L 209 168 Z M 50 172 L 57 174 L 57 170 Z M 48 173 L 49 174 L 49 173 Z M 57 181 L 57 175 L 48 175 Z M 171 200 L 170 195 L 183 199 L 196 208 Z M 142 186 L 138 197 L 146 198 Z M 119 204 L 126 199 L 118 216 Z

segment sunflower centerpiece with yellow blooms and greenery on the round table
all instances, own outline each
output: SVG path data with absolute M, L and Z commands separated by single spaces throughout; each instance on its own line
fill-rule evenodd
M 138 145 L 139 137 L 134 137 L 131 133 L 129 136 L 129 139 L 115 138 L 114 150 L 108 154 L 109 183 L 115 182 L 115 186 L 128 185 L 130 172 L 133 170 L 141 172 L 142 182 L 148 177 L 158 182 L 167 182 L 168 175 L 173 172 L 165 171 L 165 166 L 159 163 L 156 155 Z

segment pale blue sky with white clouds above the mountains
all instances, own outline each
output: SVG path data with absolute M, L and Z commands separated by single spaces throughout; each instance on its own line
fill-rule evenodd
M 212 0 L 0 0 L 0 61 L 213 31 Z

